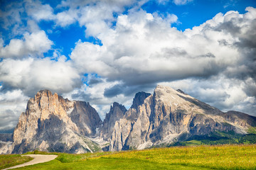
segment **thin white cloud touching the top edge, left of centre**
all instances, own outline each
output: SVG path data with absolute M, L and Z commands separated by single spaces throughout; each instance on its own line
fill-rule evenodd
M 67 11 L 57 13 L 57 26 L 69 26 L 78 21 L 85 26 L 86 36 L 97 36 L 105 33 L 114 21 L 113 13 L 122 13 L 124 7 L 132 6 L 136 1 L 63 1 L 58 7 L 68 7 Z

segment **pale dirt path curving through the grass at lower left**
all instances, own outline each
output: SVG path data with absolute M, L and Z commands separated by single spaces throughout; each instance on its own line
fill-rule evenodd
M 23 156 L 33 157 L 34 159 L 31 160 L 30 162 L 26 162 L 24 164 L 19 164 L 19 165 L 16 165 L 16 166 L 12 166 L 12 167 L 9 167 L 7 169 L 15 169 L 15 168 L 19 168 L 19 167 L 22 167 L 22 166 L 28 166 L 28 165 L 32 165 L 32 164 L 39 164 L 39 163 L 43 163 L 43 162 L 49 162 L 49 161 L 55 159 L 56 157 L 58 157 L 57 155 L 52 155 L 52 154 L 26 154 L 26 155 L 21 155 L 21 157 L 23 157 Z

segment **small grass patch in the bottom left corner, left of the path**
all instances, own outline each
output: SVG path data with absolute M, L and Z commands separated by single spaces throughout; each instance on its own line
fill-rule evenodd
M 17 164 L 23 164 L 24 162 L 31 161 L 31 157 L 21 157 L 19 154 L 0 155 L 0 169 L 6 169 Z

